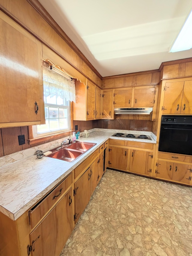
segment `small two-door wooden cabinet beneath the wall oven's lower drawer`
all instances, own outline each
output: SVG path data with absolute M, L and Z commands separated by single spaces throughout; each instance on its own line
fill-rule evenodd
M 158 160 L 154 176 L 192 185 L 192 165 Z

